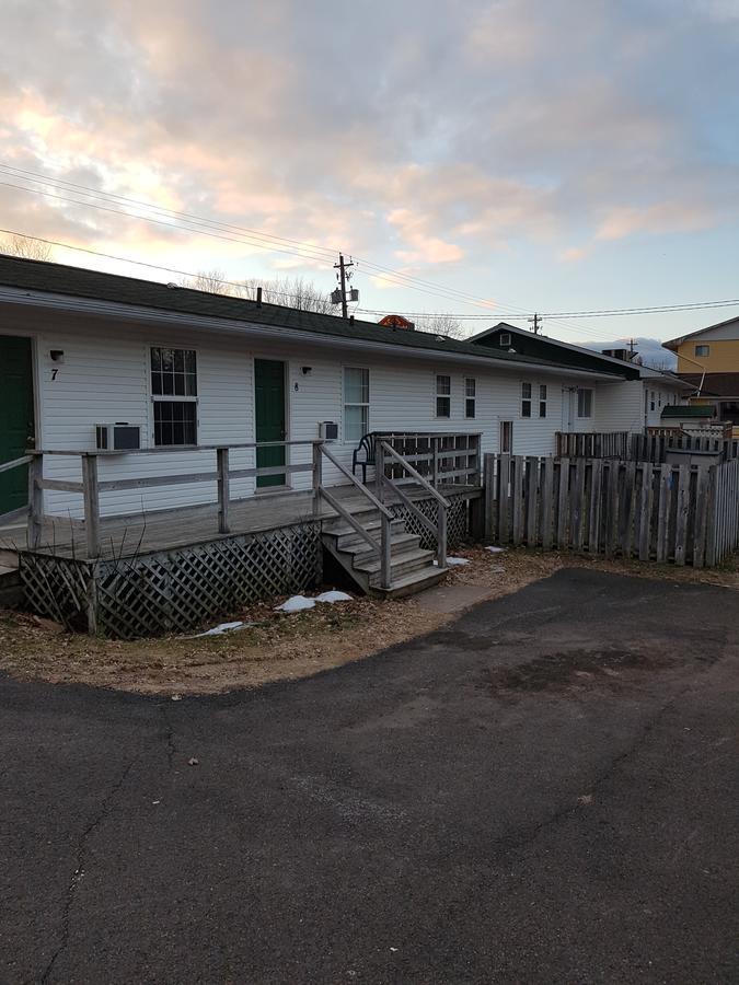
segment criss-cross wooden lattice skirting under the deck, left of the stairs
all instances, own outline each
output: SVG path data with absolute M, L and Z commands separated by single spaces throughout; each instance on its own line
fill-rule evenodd
M 321 577 L 319 525 L 302 523 L 132 558 L 20 556 L 35 612 L 119 639 L 190 629 Z

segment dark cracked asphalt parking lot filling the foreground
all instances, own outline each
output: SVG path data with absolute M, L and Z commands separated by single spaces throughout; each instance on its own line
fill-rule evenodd
M 0 679 L 0 982 L 736 982 L 738 624 L 569 569 L 251 692 Z

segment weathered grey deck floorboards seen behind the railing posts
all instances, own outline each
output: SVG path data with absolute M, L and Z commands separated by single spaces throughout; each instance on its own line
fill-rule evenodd
M 374 488 L 369 485 L 372 491 Z M 426 499 L 428 494 L 413 484 L 404 485 L 404 491 L 414 500 Z M 368 509 L 368 500 L 354 486 L 335 486 L 332 494 L 350 512 Z M 480 488 L 453 485 L 440 487 L 442 494 L 476 497 Z M 390 499 L 389 502 L 400 502 Z M 322 503 L 322 519 L 336 513 Z M 106 517 L 101 520 L 101 557 L 103 559 L 136 557 L 139 554 L 170 551 L 227 538 L 235 534 L 258 533 L 297 523 L 313 518 L 313 494 L 311 491 L 265 493 L 249 499 L 232 500 L 229 508 L 230 533 L 218 533 L 218 505 L 208 503 L 180 510 L 162 510 L 128 517 Z M 86 557 L 84 523 L 65 517 L 45 517 L 41 542 L 41 553 L 59 557 Z M 25 551 L 26 523 L 15 520 L 0 525 L 0 564 L 15 565 L 15 555 Z

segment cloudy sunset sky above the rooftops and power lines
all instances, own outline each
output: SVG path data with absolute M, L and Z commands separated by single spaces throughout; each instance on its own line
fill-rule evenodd
M 2 20 L 3 229 L 327 290 L 340 248 L 361 308 L 470 331 L 485 302 L 739 297 L 739 0 L 4 0 Z M 545 331 L 667 338 L 737 311 Z

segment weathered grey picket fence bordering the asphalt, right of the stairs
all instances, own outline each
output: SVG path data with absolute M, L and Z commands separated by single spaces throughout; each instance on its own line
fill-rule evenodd
M 713 566 L 739 546 L 739 460 L 655 465 L 485 455 L 485 535 L 499 544 Z

